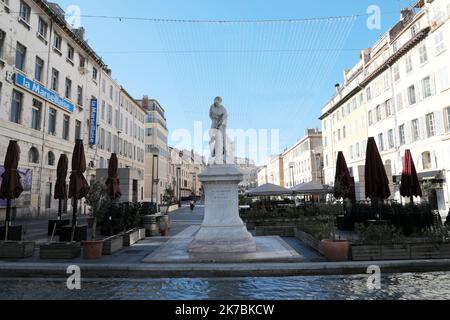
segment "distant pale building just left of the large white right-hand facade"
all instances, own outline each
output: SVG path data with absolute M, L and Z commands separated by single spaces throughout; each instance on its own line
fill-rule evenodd
M 322 132 L 307 129 L 305 136 L 282 153 L 284 187 L 292 188 L 304 182 L 323 183 Z

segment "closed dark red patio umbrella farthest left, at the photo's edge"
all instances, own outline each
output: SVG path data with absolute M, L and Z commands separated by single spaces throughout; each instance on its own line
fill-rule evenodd
M 8 240 L 8 228 L 11 224 L 11 200 L 17 199 L 23 192 L 20 174 L 17 171 L 20 160 L 20 147 L 11 140 L 6 151 L 0 198 L 6 199 L 5 240 Z

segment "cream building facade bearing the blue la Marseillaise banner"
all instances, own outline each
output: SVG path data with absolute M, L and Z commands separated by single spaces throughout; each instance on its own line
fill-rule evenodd
M 0 9 L 0 165 L 9 140 L 17 140 L 25 191 L 15 201 L 14 214 L 49 215 L 58 207 L 53 199 L 58 159 L 66 154 L 71 160 L 76 139 L 85 143 L 88 181 L 95 179 L 100 157 L 109 158 L 98 148 L 91 110 L 101 108 L 102 100 L 119 107 L 121 90 L 113 84 L 115 102 L 102 91 L 102 78 L 110 79 L 111 71 L 84 40 L 84 30 L 66 23 L 58 5 L 8 0 L 0 2 Z M 101 119 L 97 124 L 109 128 Z M 113 123 L 110 133 L 111 140 L 105 132 L 104 141 L 111 141 L 112 151 Z M 143 149 L 143 143 L 125 140 Z M 137 157 L 120 161 L 135 167 L 141 163 L 143 169 Z M 3 214 L 0 204 L 0 219 Z

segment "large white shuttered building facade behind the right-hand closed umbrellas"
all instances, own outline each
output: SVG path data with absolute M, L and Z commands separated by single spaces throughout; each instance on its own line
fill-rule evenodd
M 403 155 L 410 149 L 424 198 L 446 215 L 450 189 L 450 1 L 418 1 L 359 63 L 322 108 L 325 179 L 334 180 L 336 154 L 343 151 L 364 199 L 364 158 L 374 137 L 401 201 Z M 345 129 L 344 129 L 345 128 Z M 349 129 L 350 128 L 350 129 Z M 345 132 L 345 134 L 344 134 Z

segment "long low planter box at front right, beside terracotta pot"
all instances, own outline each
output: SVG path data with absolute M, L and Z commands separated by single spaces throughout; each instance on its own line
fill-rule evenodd
M 405 243 L 398 245 L 351 245 L 353 261 L 414 260 L 450 258 L 448 243 Z

